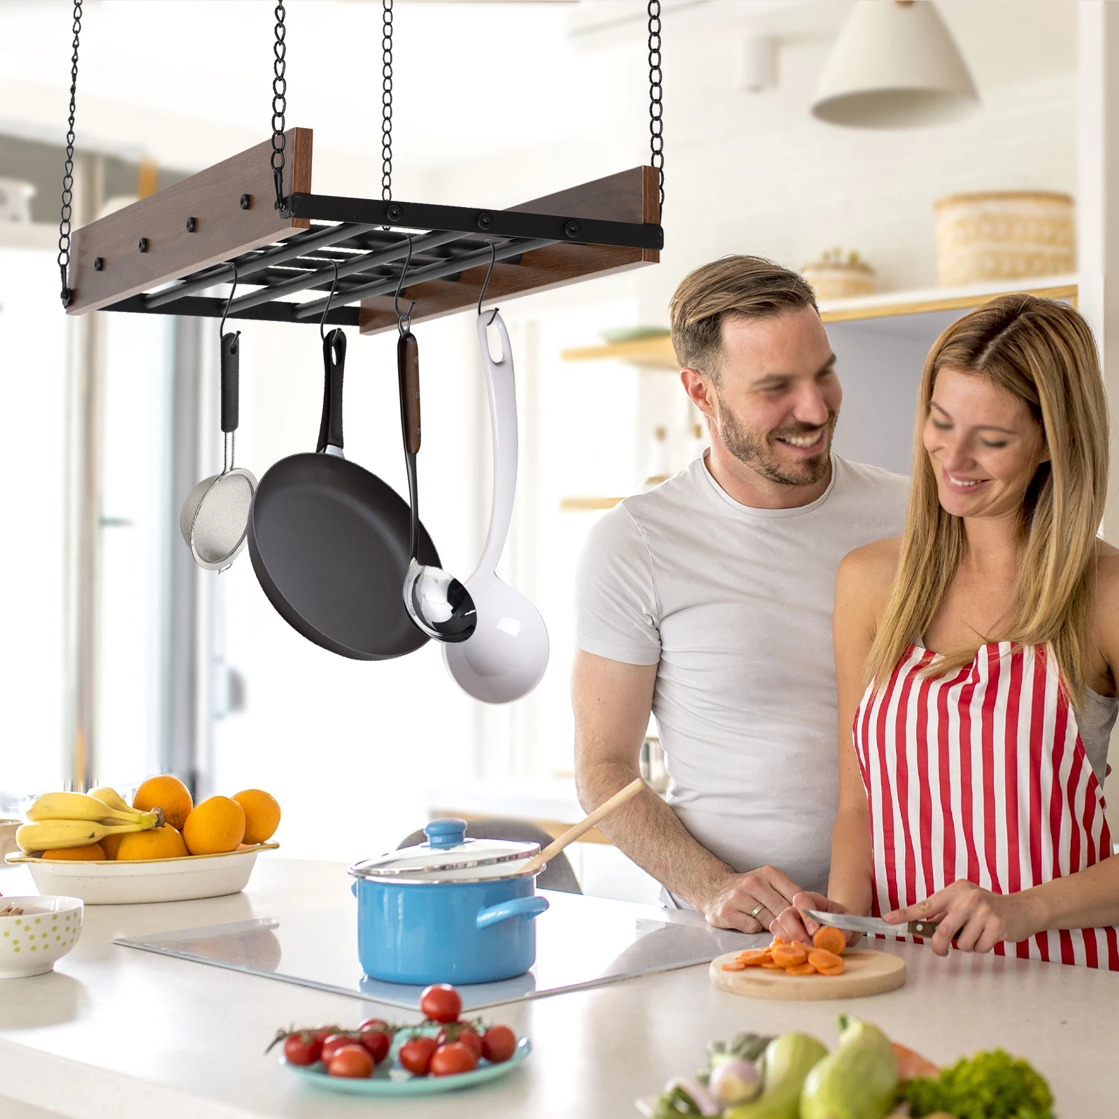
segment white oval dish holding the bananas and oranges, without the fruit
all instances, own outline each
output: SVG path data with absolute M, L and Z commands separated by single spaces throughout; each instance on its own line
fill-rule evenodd
M 121 863 L 36 858 L 25 854 L 7 858 L 9 863 L 26 864 L 40 893 L 69 894 L 81 897 L 86 905 L 129 905 L 238 893 L 248 883 L 256 856 L 279 846 L 263 843 L 224 855 L 137 858 Z

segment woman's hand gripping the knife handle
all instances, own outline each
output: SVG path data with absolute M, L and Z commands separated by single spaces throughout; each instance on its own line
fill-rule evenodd
M 887 913 L 890 924 L 937 921 L 932 950 L 947 956 L 952 941 L 962 952 L 989 952 L 997 943 L 1025 940 L 1032 928 L 1023 894 L 995 894 L 967 878 L 958 878 L 931 897 Z

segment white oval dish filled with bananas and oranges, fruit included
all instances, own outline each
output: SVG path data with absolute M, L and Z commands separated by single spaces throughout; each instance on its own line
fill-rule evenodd
M 107 787 L 48 792 L 27 810 L 9 863 L 27 864 L 44 894 L 88 905 L 187 901 L 237 893 L 280 824 L 261 789 L 194 803 L 176 777 L 150 778 L 130 805 Z

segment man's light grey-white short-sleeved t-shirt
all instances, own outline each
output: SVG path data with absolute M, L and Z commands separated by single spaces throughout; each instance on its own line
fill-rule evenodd
M 838 802 L 831 610 L 839 561 L 900 535 L 909 480 L 831 458 L 810 505 L 735 501 L 703 459 L 591 533 L 575 642 L 657 665 L 652 713 L 684 826 L 735 871 L 827 888 Z

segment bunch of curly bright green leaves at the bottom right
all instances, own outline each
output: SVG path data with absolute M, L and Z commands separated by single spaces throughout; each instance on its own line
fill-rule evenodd
M 1003 1050 L 957 1061 L 935 1080 L 906 1080 L 902 1099 L 914 1116 L 948 1111 L 957 1119 L 1053 1119 L 1049 1084 Z

